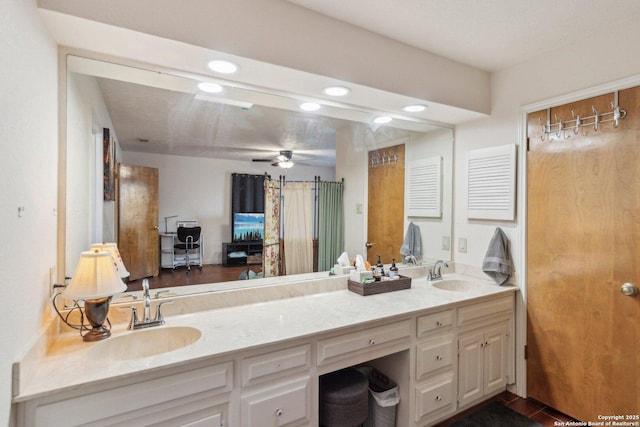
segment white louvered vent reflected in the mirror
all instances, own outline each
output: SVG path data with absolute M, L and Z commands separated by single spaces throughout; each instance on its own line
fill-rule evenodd
M 442 157 L 408 163 L 407 216 L 442 216 Z

